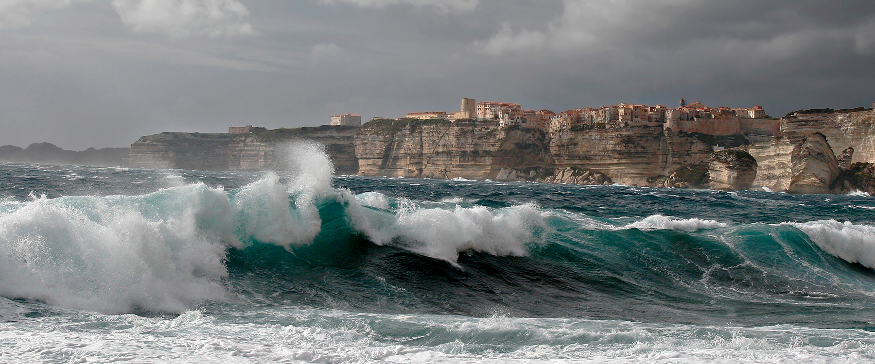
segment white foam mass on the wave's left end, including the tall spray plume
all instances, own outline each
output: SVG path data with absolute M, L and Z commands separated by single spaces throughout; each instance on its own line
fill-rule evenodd
M 331 187 L 331 162 L 318 147 L 293 148 L 290 185 L 267 174 L 233 194 L 198 183 L 144 196 L 33 192 L 29 202 L 4 203 L 0 295 L 99 312 L 183 312 L 226 299 L 228 246 L 290 248 L 319 232 L 314 201 Z

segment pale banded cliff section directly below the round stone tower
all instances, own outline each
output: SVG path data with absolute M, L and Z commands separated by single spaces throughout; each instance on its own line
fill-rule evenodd
M 545 135 L 494 121 L 376 120 L 355 137 L 360 175 L 495 178 L 502 168 L 549 165 Z

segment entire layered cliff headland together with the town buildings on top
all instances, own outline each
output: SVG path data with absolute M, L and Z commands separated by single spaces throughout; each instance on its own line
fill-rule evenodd
M 144 136 L 131 145 L 130 167 L 281 169 L 283 144 L 310 139 L 349 175 L 875 193 L 873 114 L 801 110 L 779 120 L 757 106 L 683 100 L 675 109 L 620 104 L 556 114 L 464 99 L 458 113 L 409 113 L 361 127 Z

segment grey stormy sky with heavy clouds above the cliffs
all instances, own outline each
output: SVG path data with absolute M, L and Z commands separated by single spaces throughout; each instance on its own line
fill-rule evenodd
M 872 0 L 0 0 L 0 145 L 332 114 L 875 101 Z

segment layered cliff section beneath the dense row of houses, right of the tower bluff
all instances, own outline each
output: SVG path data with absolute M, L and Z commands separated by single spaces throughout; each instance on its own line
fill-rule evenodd
M 563 131 L 550 139 L 549 150 L 556 167 L 590 168 L 613 182 L 640 186 L 711 155 L 711 147 L 694 135 L 662 127 Z

